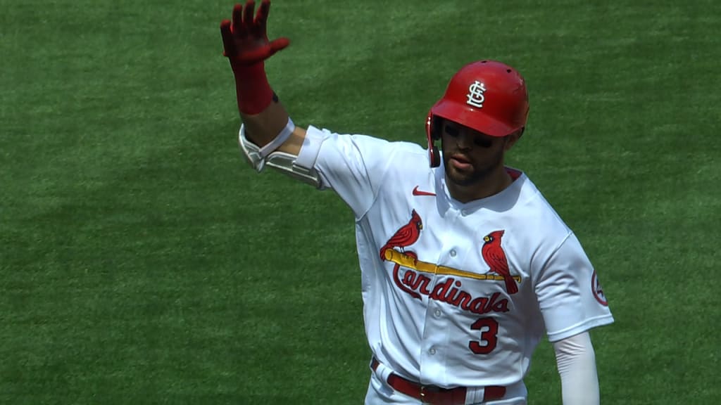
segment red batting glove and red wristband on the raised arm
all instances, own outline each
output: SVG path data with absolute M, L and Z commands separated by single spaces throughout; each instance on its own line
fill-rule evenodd
M 233 7 L 232 22 L 227 19 L 221 22 L 223 55 L 228 57 L 235 76 L 238 110 L 246 115 L 262 112 L 273 100 L 263 61 L 291 43 L 286 37 L 268 40 L 270 0 L 260 3 L 255 18 L 254 11 L 255 1 L 247 0 L 245 7 L 240 4 Z

